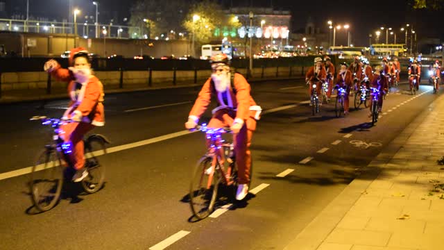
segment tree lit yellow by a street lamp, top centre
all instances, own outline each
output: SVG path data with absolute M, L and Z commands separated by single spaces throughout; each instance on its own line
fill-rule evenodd
M 194 4 L 189 10 L 182 25 L 198 43 L 210 42 L 216 27 L 228 21 L 223 7 L 219 4 L 204 0 Z

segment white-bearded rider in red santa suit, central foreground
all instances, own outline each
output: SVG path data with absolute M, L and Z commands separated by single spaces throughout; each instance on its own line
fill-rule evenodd
M 213 110 L 207 127 L 230 127 L 234 134 L 234 153 L 239 176 L 236 199 L 241 200 L 248 194 L 251 138 L 262 109 L 251 97 L 250 84 L 244 76 L 230 71 L 230 60 L 225 53 L 212 56 L 210 63 L 212 75 L 200 90 L 185 127 L 189 130 L 196 128 L 198 120 L 210 106 L 211 98 L 216 98 L 219 107 Z

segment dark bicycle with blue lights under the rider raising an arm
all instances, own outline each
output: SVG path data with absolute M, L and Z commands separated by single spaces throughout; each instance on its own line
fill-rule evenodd
M 65 173 L 68 170 L 67 166 L 71 166 L 66 155 L 71 153 L 72 144 L 64 142 L 60 138 L 60 135 L 64 133 L 60 126 L 73 121 L 39 116 L 32 117 L 31 120 L 40 120 L 43 125 L 53 128 L 52 142 L 46 144 L 43 151 L 37 154 L 29 183 L 31 201 L 37 210 L 44 212 L 56 206 L 60 200 Z M 89 174 L 81 181 L 81 185 L 85 192 L 92 194 L 103 187 L 105 166 L 99 163 L 97 157 L 106 153 L 105 144 L 110 142 L 100 134 L 89 135 L 83 141 L 85 143 L 85 167 Z

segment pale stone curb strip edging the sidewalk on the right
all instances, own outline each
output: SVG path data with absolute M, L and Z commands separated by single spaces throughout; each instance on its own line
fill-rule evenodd
M 434 100 L 430 106 L 436 106 L 436 103 L 444 101 L 444 95 Z M 433 109 L 432 109 L 433 110 Z M 361 174 L 357 176 L 336 198 L 333 199 L 311 222 L 305 226 L 302 231 L 296 235 L 284 250 L 316 250 L 330 233 L 341 222 L 341 219 L 352 208 L 356 201 L 361 197 L 361 192 L 375 181 L 377 176 L 385 168 L 395 153 L 397 153 L 407 142 L 410 135 L 416 131 L 416 128 L 422 123 L 432 110 L 425 108 L 418 117 L 413 119 L 404 130 L 391 142 L 388 143 L 382 152 L 374 158 L 367 167 L 361 169 Z

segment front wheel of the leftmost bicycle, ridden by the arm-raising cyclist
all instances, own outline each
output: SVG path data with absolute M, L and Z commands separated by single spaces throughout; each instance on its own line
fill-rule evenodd
M 63 185 L 62 160 L 56 149 L 44 149 L 37 155 L 29 184 L 35 208 L 44 212 L 56 206 Z

